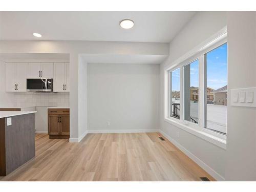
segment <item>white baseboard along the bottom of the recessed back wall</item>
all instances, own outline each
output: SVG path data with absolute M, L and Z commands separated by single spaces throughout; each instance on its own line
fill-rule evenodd
M 141 129 L 141 130 L 88 130 L 88 133 L 154 133 L 159 129 Z

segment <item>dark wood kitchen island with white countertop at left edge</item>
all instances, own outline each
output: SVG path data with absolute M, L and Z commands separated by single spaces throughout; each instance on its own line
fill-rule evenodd
M 35 157 L 36 111 L 0 111 L 0 176 Z

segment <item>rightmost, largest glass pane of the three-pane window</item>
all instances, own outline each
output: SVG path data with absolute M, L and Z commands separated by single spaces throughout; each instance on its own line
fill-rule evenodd
M 227 44 L 205 54 L 204 127 L 226 134 L 227 126 Z

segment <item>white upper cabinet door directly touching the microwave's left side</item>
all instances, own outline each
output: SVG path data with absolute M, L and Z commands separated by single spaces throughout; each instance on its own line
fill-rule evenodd
M 17 63 L 17 91 L 26 92 L 27 91 L 27 78 L 28 78 L 28 63 L 20 62 Z

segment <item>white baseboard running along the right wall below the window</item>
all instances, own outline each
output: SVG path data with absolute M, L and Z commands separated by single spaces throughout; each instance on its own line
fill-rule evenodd
M 202 160 L 200 160 L 198 157 L 196 157 L 194 154 L 190 153 L 185 147 L 183 147 L 180 143 L 175 141 L 172 137 L 168 136 L 166 133 L 164 133 L 162 130 L 160 130 L 160 133 L 166 137 L 170 142 L 172 142 L 175 146 L 179 148 L 180 151 L 182 151 L 184 154 L 186 154 L 190 159 L 192 159 L 194 162 L 196 162 L 201 168 L 203 168 L 209 175 L 214 177 L 217 181 L 225 181 L 225 178 L 222 177 L 220 174 L 218 174 L 214 169 L 209 167 L 207 164 L 205 164 Z

